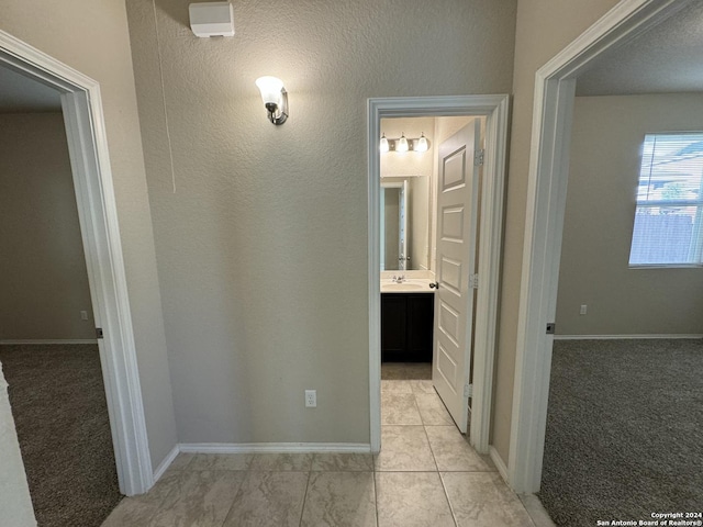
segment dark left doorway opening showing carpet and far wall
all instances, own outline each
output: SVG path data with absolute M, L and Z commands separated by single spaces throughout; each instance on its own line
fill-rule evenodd
M 0 362 L 40 525 L 122 500 L 58 92 L 0 67 Z

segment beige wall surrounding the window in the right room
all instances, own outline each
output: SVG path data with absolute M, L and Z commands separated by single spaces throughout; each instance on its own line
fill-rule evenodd
M 645 134 L 700 131 L 702 122 L 700 93 L 577 98 L 559 334 L 703 334 L 703 269 L 627 267 Z

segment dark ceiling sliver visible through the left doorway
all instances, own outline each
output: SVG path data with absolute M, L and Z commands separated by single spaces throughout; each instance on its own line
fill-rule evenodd
M 0 113 L 60 112 L 58 91 L 0 67 Z

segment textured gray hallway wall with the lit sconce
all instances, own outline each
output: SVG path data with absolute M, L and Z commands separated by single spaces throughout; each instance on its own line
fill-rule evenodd
M 179 438 L 368 445 L 367 100 L 509 92 L 516 2 L 188 4 L 127 0 Z

